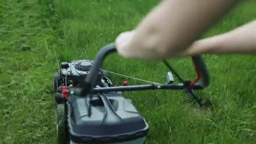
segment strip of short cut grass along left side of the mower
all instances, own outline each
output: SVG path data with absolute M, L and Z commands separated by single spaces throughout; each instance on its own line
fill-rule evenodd
M 53 97 L 46 90 L 55 59 L 48 5 L 1 0 L 0 11 L 0 144 L 52 143 Z

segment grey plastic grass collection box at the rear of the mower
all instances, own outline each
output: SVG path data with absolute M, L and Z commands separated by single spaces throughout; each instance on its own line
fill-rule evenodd
M 67 120 L 71 141 L 79 144 L 136 141 L 136 144 L 143 144 L 149 126 L 133 104 L 121 92 L 103 95 L 103 100 L 98 95 L 92 96 L 90 117 L 85 99 L 71 96 Z M 108 104 L 106 111 L 104 105 Z

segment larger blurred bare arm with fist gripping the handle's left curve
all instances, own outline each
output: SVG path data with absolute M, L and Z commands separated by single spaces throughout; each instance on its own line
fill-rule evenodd
M 127 58 L 176 56 L 236 3 L 237 0 L 163 0 L 133 32 L 123 34 L 125 40 L 116 40 L 117 51 Z

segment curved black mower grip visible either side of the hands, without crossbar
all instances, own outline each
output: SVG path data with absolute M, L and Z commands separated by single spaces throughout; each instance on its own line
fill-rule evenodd
M 96 57 L 94 59 L 94 66 L 90 70 L 90 73 L 88 76 L 85 78 L 85 86 L 83 88 L 83 95 L 87 95 L 89 92 L 93 91 L 94 85 L 96 83 L 97 79 L 97 73 L 99 73 L 99 70 L 103 64 L 103 61 L 105 57 L 109 53 L 116 52 L 116 46 L 115 43 L 109 43 L 108 45 L 104 46 L 103 48 L 100 49 L 100 51 L 96 54 Z M 201 87 L 206 87 L 209 85 L 209 75 L 208 75 L 208 70 L 206 68 L 206 65 L 202 59 L 201 56 L 192 56 L 193 64 L 195 65 L 195 69 L 197 72 L 197 79 L 194 80 L 191 85 L 193 85 L 199 80 L 202 79 L 202 85 Z

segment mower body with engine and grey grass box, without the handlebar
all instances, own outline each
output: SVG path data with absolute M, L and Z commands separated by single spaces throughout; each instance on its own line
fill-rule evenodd
M 122 92 L 93 94 L 90 117 L 88 97 L 80 97 L 76 93 L 68 97 L 63 95 L 63 88 L 83 88 L 92 67 L 91 60 L 62 62 L 59 75 L 54 73 L 59 144 L 143 144 L 148 124 Z M 98 87 L 115 86 L 107 71 L 101 70 L 97 75 Z

